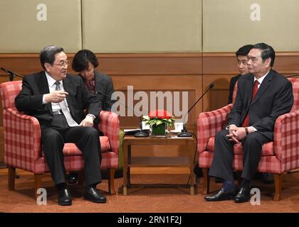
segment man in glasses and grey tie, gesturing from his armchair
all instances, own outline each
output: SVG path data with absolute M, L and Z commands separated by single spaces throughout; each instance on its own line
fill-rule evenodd
M 23 78 L 16 108 L 34 116 L 41 125 L 41 143 L 51 177 L 58 189 L 58 204 L 72 204 L 65 184 L 64 143 L 75 143 L 82 151 L 85 168 L 84 199 L 105 203 L 95 187 L 101 182 L 100 139 L 93 128 L 102 105 L 78 76 L 67 74 L 68 58 L 63 48 L 47 46 L 40 54 L 43 72 Z M 85 116 L 84 110 L 88 114 Z

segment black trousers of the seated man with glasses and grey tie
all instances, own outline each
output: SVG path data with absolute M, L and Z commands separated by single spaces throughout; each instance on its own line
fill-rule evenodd
M 75 143 L 82 151 L 85 170 L 85 185 L 102 181 L 100 173 L 100 139 L 93 127 L 69 127 L 63 114 L 54 115 L 51 128 L 41 129 L 41 143 L 51 176 L 55 184 L 65 182 L 63 164 L 64 143 Z

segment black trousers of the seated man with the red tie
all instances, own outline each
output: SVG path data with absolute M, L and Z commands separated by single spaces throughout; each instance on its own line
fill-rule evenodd
M 216 133 L 214 158 L 211 163 L 209 175 L 219 177 L 225 180 L 234 181 L 233 161 L 234 148 L 226 135 L 229 130 L 222 130 Z M 243 171 L 241 177 L 250 181 L 261 160 L 261 150 L 264 143 L 270 140 L 258 132 L 250 133 L 242 140 L 243 145 Z

